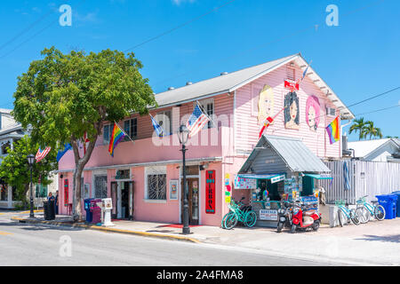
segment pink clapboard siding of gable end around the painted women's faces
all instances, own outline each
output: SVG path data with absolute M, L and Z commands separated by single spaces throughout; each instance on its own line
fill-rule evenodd
M 300 67 L 296 66 L 296 79 L 302 75 Z M 286 67 L 280 67 L 275 71 L 264 75 L 252 83 L 244 85 L 236 91 L 236 151 L 248 152 L 256 145 L 262 126 L 258 122 L 257 112 L 259 91 L 268 84 L 274 91 L 274 115 L 284 107 L 284 95 L 289 92 L 284 88 L 284 80 L 287 79 Z M 296 91 L 300 106 L 300 130 L 284 128 L 284 112 L 276 117 L 275 122 L 264 132 L 268 135 L 288 136 L 301 138 L 306 146 L 319 157 L 340 157 L 340 142 L 330 145 L 325 127 L 332 122 L 334 116 L 325 116 L 325 107 L 333 107 L 323 91 L 316 87 L 308 77 L 300 83 L 300 91 Z M 310 130 L 306 122 L 306 101 L 308 96 L 315 95 L 319 99 L 320 122 L 316 131 Z M 336 114 L 339 111 L 336 110 Z

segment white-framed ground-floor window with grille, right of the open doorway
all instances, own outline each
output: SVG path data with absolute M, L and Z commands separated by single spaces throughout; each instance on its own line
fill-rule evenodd
M 148 167 L 145 175 L 145 198 L 152 201 L 166 201 L 166 167 Z

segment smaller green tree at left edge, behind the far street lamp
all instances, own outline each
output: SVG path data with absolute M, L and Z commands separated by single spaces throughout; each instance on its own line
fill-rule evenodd
M 36 154 L 39 144 L 32 143 L 31 138 L 25 136 L 13 144 L 13 149 L 8 148 L 8 155 L 4 157 L 0 164 L 0 176 L 8 185 L 16 186 L 15 199 L 27 201 L 27 193 L 30 183 L 30 168 L 28 166 L 28 154 Z M 38 183 L 41 177 L 43 185 L 50 185 L 52 180 L 49 174 L 52 170 L 57 170 L 57 153 L 50 151 L 41 162 L 34 164 L 32 169 L 32 180 L 34 184 Z

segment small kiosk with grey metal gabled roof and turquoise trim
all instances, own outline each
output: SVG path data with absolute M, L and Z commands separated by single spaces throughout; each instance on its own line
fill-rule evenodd
M 276 227 L 281 201 L 318 209 L 318 179 L 332 179 L 328 167 L 300 139 L 264 135 L 235 177 L 248 190 L 258 226 Z

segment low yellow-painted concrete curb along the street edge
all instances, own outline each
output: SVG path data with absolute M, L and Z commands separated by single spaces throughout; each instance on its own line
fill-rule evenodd
M 163 233 L 148 233 L 148 232 L 140 232 L 140 231 L 130 231 L 130 230 L 110 228 L 110 227 L 102 227 L 99 225 L 68 224 L 68 223 L 64 223 L 64 222 L 55 222 L 55 221 L 30 220 L 30 219 L 24 219 L 24 218 L 20 218 L 20 217 L 12 217 L 11 219 L 12 219 L 12 221 L 17 221 L 20 223 L 68 226 L 68 227 L 74 227 L 74 228 L 78 227 L 78 228 L 84 228 L 84 229 L 88 229 L 88 230 L 96 230 L 96 231 L 101 231 L 101 232 L 106 232 L 106 233 L 125 233 L 125 234 L 140 235 L 140 236 L 144 236 L 144 237 L 169 239 L 169 240 L 174 240 L 174 241 L 190 241 L 190 242 L 195 242 L 195 243 L 201 243 L 201 241 L 199 241 L 195 238 L 188 238 L 188 237 L 184 237 L 184 236 L 174 236 L 174 235 L 163 234 Z

